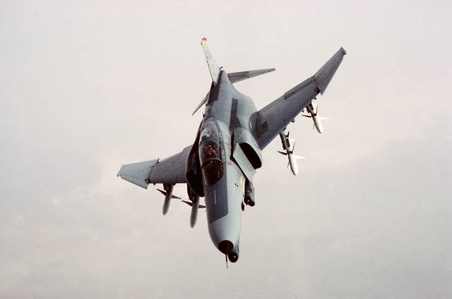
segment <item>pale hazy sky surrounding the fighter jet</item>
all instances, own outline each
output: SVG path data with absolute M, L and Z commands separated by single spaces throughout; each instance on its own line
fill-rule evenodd
M 452 298 L 450 1 L 1 1 L 1 298 Z M 210 75 L 258 109 L 340 47 L 324 133 L 263 152 L 240 258 L 117 178 L 194 142 Z M 184 185 L 176 195 L 185 196 Z

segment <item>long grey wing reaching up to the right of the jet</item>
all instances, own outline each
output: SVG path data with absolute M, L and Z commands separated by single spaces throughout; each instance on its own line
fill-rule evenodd
M 323 94 L 347 52 L 340 48 L 317 73 L 257 112 L 256 133 L 263 150 L 311 102 Z

